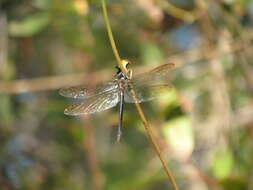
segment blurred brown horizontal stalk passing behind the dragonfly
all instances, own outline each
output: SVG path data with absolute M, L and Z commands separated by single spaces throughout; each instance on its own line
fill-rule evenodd
M 251 41 L 251 35 L 248 38 L 245 38 L 247 41 Z M 247 44 L 245 45 L 242 41 L 232 41 L 227 42 L 231 47 L 229 50 L 227 49 L 216 49 L 212 48 L 208 52 L 202 50 L 202 48 L 198 48 L 195 50 L 187 51 L 180 53 L 175 56 L 171 56 L 169 61 L 166 62 L 173 62 L 177 63 L 177 65 L 181 66 L 188 62 L 195 62 L 199 60 L 212 60 L 214 58 L 223 57 L 225 55 L 236 53 L 243 51 L 250 52 L 252 50 L 252 45 Z M 136 68 L 136 70 L 142 70 L 142 67 Z M 99 77 L 97 77 L 99 76 Z M 86 76 L 85 73 L 79 74 L 68 74 L 64 76 L 50 76 L 50 77 L 41 77 L 41 78 L 34 78 L 34 79 L 21 79 L 21 80 L 12 80 L 12 81 L 0 81 L 0 93 L 3 94 L 19 94 L 19 93 L 26 93 L 26 92 L 36 92 L 42 90 L 51 90 L 51 89 L 59 89 L 62 87 L 66 87 L 69 84 L 72 85 L 80 85 L 92 77 L 95 82 L 101 82 L 108 79 L 108 76 L 105 72 L 95 72 L 92 76 Z M 253 81 L 253 80 L 252 80 Z M 250 82 L 253 84 L 253 82 Z

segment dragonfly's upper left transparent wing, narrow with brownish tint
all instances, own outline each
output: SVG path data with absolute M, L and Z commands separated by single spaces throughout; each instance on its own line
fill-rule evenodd
M 76 86 L 69 88 L 62 88 L 59 94 L 68 98 L 90 98 L 99 94 L 117 89 L 118 85 L 115 81 L 101 83 L 96 86 Z

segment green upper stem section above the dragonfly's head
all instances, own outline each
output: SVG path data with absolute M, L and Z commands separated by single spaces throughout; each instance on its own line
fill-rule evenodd
M 118 62 L 118 65 L 120 65 L 121 58 L 120 58 L 119 52 L 117 50 L 117 47 L 116 47 L 116 44 L 115 44 L 115 40 L 113 38 L 112 29 L 111 29 L 110 21 L 109 21 L 108 14 L 107 14 L 105 0 L 101 0 L 101 3 L 102 3 L 103 14 L 104 14 L 105 25 L 106 25 L 108 37 L 109 37 L 109 40 L 110 40 L 110 43 L 111 43 L 111 46 L 112 46 L 112 51 L 113 51 L 114 56 L 115 56 L 115 58 L 116 58 L 116 60 Z

